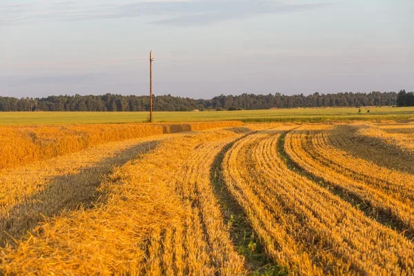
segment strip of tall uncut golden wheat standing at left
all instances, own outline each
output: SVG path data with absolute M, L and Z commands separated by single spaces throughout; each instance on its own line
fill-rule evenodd
M 242 126 L 242 122 L 0 126 L 0 170 L 78 152 L 108 141 L 237 126 Z

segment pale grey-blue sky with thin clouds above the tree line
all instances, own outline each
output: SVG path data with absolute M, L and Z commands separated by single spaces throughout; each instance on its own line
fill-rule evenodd
M 414 90 L 413 0 L 0 0 L 0 96 Z

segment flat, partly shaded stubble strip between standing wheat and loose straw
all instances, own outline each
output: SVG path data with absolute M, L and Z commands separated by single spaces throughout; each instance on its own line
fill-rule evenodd
M 112 168 L 122 166 L 159 141 L 157 135 L 93 146 L 80 152 L 0 172 L 0 246 L 32 230 L 45 218 L 90 208 L 96 188 Z

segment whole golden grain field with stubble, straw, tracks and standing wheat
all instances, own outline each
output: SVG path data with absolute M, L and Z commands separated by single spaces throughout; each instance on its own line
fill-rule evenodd
M 351 110 L 1 114 L 0 275 L 414 275 L 414 110 Z

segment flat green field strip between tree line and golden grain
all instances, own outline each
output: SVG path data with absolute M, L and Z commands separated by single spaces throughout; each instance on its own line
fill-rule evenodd
M 304 108 L 277 110 L 154 112 L 155 122 L 175 121 L 348 121 L 414 119 L 407 108 Z M 370 110 L 370 112 L 367 112 Z M 148 121 L 148 112 L 0 112 L 0 125 L 18 124 L 109 124 Z

